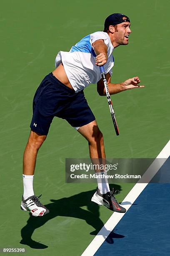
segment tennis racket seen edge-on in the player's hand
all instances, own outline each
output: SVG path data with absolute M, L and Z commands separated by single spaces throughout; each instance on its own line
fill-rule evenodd
M 118 129 L 118 126 L 117 126 L 117 123 L 116 123 L 115 113 L 114 113 L 114 110 L 113 110 L 112 101 L 110 99 L 110 93 L 109 93 L 108 86 L 107 86 L 106 73 L 105 73 L 105 69 L 104 69 L 103 66 L 100 66 L 100 73 L 102 75 L 103 83 L 105 85 L 107 101 L 108 101 L 108 104 L 109 104 L 110 114 L 112 116 L 113 124 L 114 124 L 114 127 L 115 127 L 115 132 L 116 132 L 116 135 L 118 136 L 119 135 L 119 129 Z

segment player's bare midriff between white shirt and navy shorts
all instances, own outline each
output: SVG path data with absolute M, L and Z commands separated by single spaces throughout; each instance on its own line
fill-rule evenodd
M 65 73 L 65 69 L 62 65 L 62 63 L 54 70 L 52 71 L 52 74 L 58 79 L 60 80 L 60 82 L 62 82 L 63 84 L 65 84 L 67 87 L 69 87 L 70 89 L 74 90 L 72 88 L 72 85 L 70 84 L 67 74 Z

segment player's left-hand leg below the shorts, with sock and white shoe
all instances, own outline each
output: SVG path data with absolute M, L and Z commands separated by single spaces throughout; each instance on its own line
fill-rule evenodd
M 21 210 L 29 210 L 34 216 L 42 216 L 49 212 L 49 210 L 40 203 L 38 200 L 39 197 L 36 197 L 33 191 L 33 177 L 37 152 L 46 137 L 46 135 L 31 131 L 23 156 L 24 194 L 21 202 Z

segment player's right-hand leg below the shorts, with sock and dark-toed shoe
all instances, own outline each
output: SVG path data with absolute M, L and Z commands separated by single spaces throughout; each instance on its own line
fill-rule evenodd
M 96 121 L 92 121 L 87 125 L 83 125 L 77 130 L 82 136 L 84 136 L 89 144 L 89 152 L 91 159 L 103 159 L 105 161 L 105 148 L 103 142 L 103 136 L 99 130 Z M 106 174 L 105 172 L 99 172 L 96 170 L 96 174 Z M 97 178 L 98 189 L 92 197 L 92 201 L 98 205 L 104 205 L 115 212 L 126 212 L 114 197 L 114 191 L 110 192 L 107 177 Z

